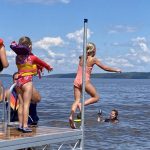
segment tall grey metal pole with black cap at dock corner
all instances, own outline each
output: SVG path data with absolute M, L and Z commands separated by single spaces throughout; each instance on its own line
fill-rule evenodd
M 87 45 L 87 23 L 88 19 L 84 19 L 84 35 L 83 35 L 83 67 L 82 67 L 82 140 L 81 140 L 81 149 L 84 150 L 84 99 L 85 99 L 85 72 L 86 72 L 86 45 Z

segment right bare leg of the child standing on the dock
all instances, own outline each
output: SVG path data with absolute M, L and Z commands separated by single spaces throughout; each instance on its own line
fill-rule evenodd
M 28 82 L 23 85 L 23 127 L 28 127 L 28 115 L 29 115 L 29 106 L 32 97 L 33 85 L 32 82 Z

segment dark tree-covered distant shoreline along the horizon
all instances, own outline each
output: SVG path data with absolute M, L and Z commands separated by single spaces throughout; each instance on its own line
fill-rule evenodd
M 44 78 L 75 78 L 76 73 L 51 74 Z M 0 74 L 0 77 L 12 77 L 9 74 Z M 93 73 L 91 78 L 105 79 L 150 79 L 150 72 L 124 72 L 124 73 Z

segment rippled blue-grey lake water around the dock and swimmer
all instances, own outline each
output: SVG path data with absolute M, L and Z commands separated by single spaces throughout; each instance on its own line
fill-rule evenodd
M 11 84 L 9 77 L 0 80 L 5 87 Z M 92 83 L 101 99 L 85 107 L 85 150 L 150 150 L 150 80 L 92 79 Z M 34 84 L 42 96 L 39 125 L 69 127 L 73 79 L 36 78 Z M 119 111 L 118 124 L 97 122 L 99 109 L 108 117 L 114 108 Z

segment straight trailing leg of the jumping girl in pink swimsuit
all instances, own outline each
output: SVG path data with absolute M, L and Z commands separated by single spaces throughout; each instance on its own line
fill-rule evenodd
M 80 102 L 80 97 L 81 97 L 81 90 L 77 87 L 74 86 L 74 103 L 72 104 L 71 107 L 71 113 L 70 113 L 70 117 L 69 117 L 69 123 L 70 123 L 70 127 L 75 129 L 75 124 L 74 124 L 74 113 L 76 112 L 76 109 L 78 107 L 78 103 Z

